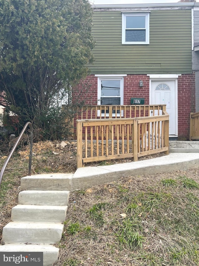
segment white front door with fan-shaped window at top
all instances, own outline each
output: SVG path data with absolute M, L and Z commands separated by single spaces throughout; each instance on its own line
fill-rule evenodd
M 176 80 L 151 80 L 150 104 L 166 104 L 166 111 L 169 114 L 170 137 L 176 136 L 178 130 L 176 87 Z

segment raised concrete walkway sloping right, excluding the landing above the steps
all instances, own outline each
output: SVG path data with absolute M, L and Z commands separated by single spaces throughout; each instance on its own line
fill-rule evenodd
M 199 153 L 170 153 L 138 162 L 118 163 L 96 167 L 81 167 L 71 176 L 68 190 L 82 189 L 111 182 L 131 175 L 156 174 L 188 170 L 199 166 Z

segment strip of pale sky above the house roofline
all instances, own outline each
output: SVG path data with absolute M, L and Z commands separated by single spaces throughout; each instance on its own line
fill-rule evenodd
M 179 0 L 90 0 L 95 5 L 100 4 L 148 4 L 148 3 L 176 3 Z M 197 0 L 199 2 L 199 0 Z

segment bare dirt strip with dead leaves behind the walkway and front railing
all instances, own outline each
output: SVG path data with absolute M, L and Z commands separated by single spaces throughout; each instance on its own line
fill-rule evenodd
M 44 168 L 49 168 L 49 171 L 61 171 L 61 172 L 75 172 L 76 171 L 76 151 L 77 144 L 76 141 L 65 141 L 67 144 L 64 148 L 60 146 L 61 141 L 45 141 L 34 143 L 33 145 L 33 172 L 38 173 L 36 169 L 38 164 L 45 166 Z M 85 155 L 85 143 L 82 143 L 83 157 Z M 89 147 L 89 145 L 88 145 Z M 111 146 L 109 146 L 109 150 Z M 116 149 L 116 144 L 115 144 Z M 94 156 L 96 153 L 96 143 L 93 144 Z M 120 144 L 121 150 L 121 144 Z M 21 148 L 21 151 L 18 151 L 23 159 L 28 160 L 29 156 L 29 146 Z M 101 146 L 99 145 L 99 154 L 101 153 Z M 88 150 L 88 156 L 90 156 L 90 151 Z M 138 160 L 146 160 L 154 157 L 164 156 L 164 152 L 152 154 L 144 157 L 139 157 Z M 133 158 L 126 159 L 115 159 L 115 160 L 105 160 L 99 162 L 87 162 L 83 164 L 85 166 L 98 166 L 98 165 L 109 165 L 117 164 L 124 162 L 133 162 Z M 36 165 L 36 166 L 35 166 Z M 45 171 L 45 170 L 44 170 Z

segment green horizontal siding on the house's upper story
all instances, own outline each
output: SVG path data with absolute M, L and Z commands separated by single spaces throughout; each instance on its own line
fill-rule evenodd
M 122 45 L 122 13 L 94 12 L 91 74 L 192 73 L 191 10 L 152 10 L 150 44 Z

